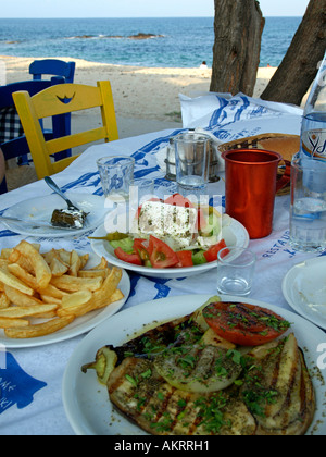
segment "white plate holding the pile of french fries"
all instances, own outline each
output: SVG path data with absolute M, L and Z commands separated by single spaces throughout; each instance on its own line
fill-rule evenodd
M 86 268 L 92 268 L 100 262 L 100 259 L 91 254 L 87 262 Z M 73 338 L 75 336 L 82 335 L 83 333 L 89 332 L 105 319 L 110 318 L 112 314 L 117 312 L 128 299 L 130 293 L 130 280 L 125 270 L 123 270 L 123 275 L 118 284 L 118 288 L 124 294 L 124 298 L 111 304 L 106 308 L 91 311 L 85 316 L 76 318 L 70 325 L 59 330 L 55 333 L 46 336 L 39 336 L 37 338 L 8 338 L 2 329 L 0 329 L 0 345 L 3 345 L 7 348 L 22 348 L 22 347 L 36 347 L 45 346 L 52 343 L 63 342 L 65 339 Z

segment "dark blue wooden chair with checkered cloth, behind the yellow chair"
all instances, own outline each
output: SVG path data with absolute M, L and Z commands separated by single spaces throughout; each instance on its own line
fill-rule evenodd
M 50 81 L 24 81 L 0 86 L 0 148 L 5 160 L 18 158 L 21 164 L 27 163 L 27 155 L 29 153 L 29 147 L 20 123 L 20 118 L 14 109 L 12 94 L 20 90 L 27 90 L 30 96 L 34 96 L 53 84 L 63 83 L 64 79 L 62 77 L 55 76 Z M 65 131 L 62 131 L 60 116 L 52 118 L 52 131 L 46 129 L 45 135 L 49 139 L 65 135 Z M 5 192 L 7 183 L 4 178 L 0 183 L 0 194 Z

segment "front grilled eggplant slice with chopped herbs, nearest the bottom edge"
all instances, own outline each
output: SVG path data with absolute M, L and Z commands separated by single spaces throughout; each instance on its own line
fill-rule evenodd
M 149 360 L 126 358 L 108 383 L 111 402 L 154 435 L 252 435 L 256 423 L 231 393 L 201 395 L 173 387 Z

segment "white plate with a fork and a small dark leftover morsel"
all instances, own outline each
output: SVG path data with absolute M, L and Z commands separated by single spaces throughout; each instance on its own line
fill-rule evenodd
M 22 222 L 3 222 L 12 232 L 29 235 L 45 236 L 51 238 L 66 237 L 73 235 L 82 235 L 88 231 L 97 228 L 104 221 L 105 214 L 109 212 L 105 208 L 104 197 L 92 194 L 75 194 L 66 193 L 67 198 L 72 200 L 78 208 L 85 212 L 89 212 L 85 225 L 80 230 L 62 230 L 52 227 L 38 227 L 24 224 Z M 3 212 L 5 217 L 20 218 L 30 222 L 46 221 L 51 222 L 54 209 L 66 209 L 66 203 L 57 194 L 50 194 L 42 197 L 32 198 L 29 200 L 20 201 Z

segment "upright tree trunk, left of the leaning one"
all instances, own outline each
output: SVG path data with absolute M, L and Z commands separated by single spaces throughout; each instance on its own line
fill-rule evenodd
M 252 96 L 265 25 L 256 0 L 214 0 L 211 91 Z

